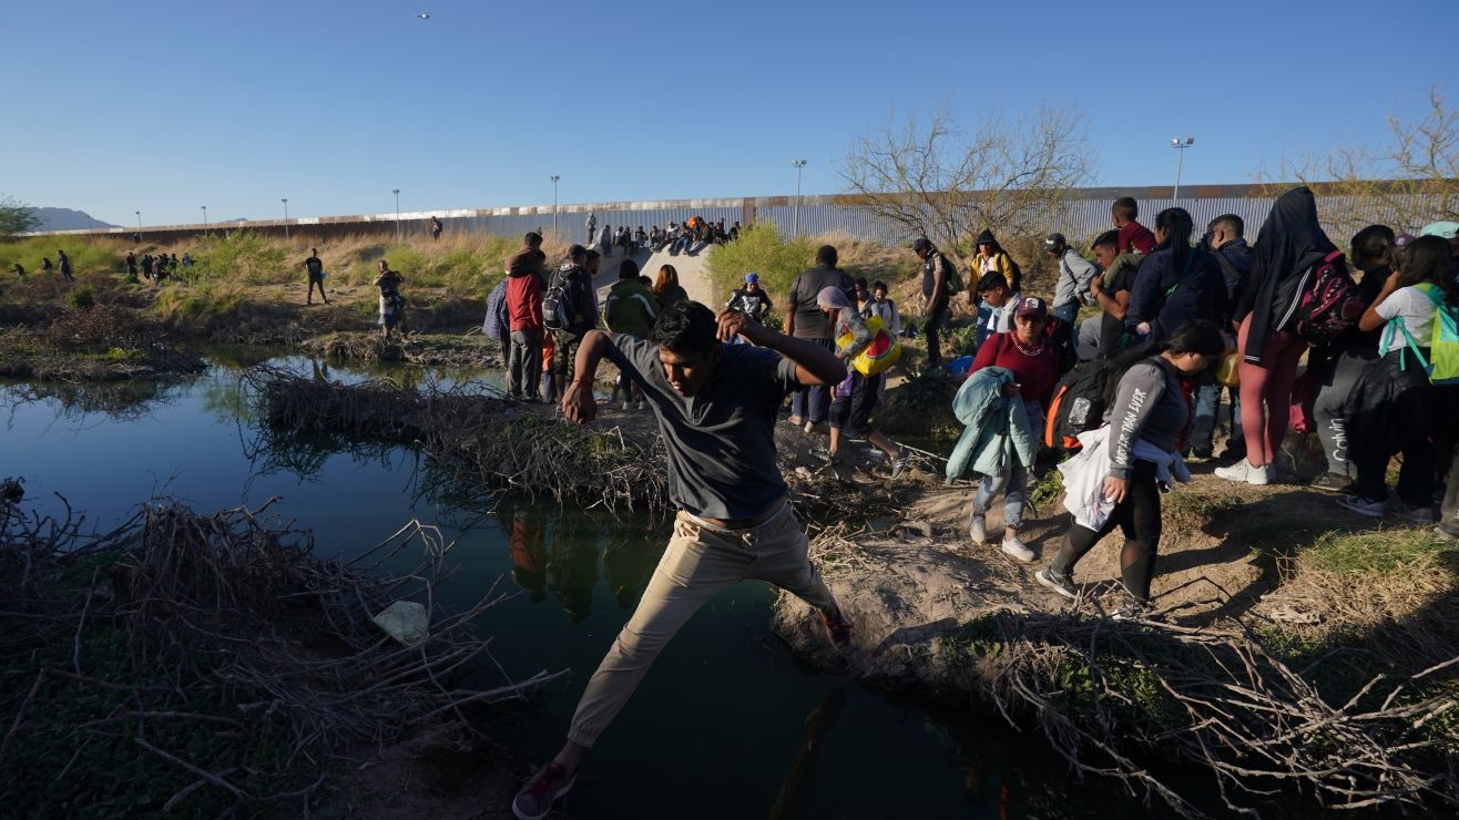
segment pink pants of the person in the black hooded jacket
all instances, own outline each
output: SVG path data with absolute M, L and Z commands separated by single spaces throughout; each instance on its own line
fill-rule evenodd
M 1236 349 L 1246 353 L 1246 334 L 1250 331 L 1250 314 L 1242 320 L 1242 331 Z M 1297 381 L 1297 360 L 1307 350 L 1307 343 L 1296 333 L 1269 333 L 1262 359 L 1266 365 L 1250 365 L 1245 359 L 1237 365 L 1242 379 L 1242 432 L 1246 435 L 1246 460 L 1255 467 L 1271 464 L 1281 449 L 1287 435 L 1287 419 L 1291 410 L 1291 388 Z

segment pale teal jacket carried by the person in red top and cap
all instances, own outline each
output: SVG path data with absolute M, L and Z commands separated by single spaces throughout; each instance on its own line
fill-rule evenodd
M 973 473 L 1002 476 L 1017 458 L 1033 467 L 1037 452 L 1033 426 L 1021 398 L 1004 398 L 1002 388 L 1013 384 L 1005 368 L 983 368 L 967 376 L 953 397 L 953 413 L 967 425 L 947 460 L 947 480 L 956 480 L 972 463 Z

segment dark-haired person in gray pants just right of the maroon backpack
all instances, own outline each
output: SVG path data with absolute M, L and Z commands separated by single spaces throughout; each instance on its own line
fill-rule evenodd
M 1393 229 L 1386 225 L 1369 225 L 1352 235 L 1352 266 L 1363 271 L 1358 287 L 1367 295 L 1369 305 L 1377 303 L 1379 293 L 1398 276 L 1392 270 L 1396 241 Z M 1315 490 L 1352 492 L 1354 465 L 1348 451 L 1352 439 L 1361 438 L 1361 430 L 1347 429 L 1342 407 L 1363 371 L 1377 360 L 1382 336 L 1382 328 L 1366 331 L 1354 325 L 1326 347 L 1307 355 L 1307 372 L 1316 374 L 1319 385 L 1312 416 L 1328 461 L 1326 471 L 1309 484 Z

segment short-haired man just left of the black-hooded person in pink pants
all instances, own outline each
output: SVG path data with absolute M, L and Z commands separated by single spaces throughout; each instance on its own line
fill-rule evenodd
M 1252 250 L 1243 236 L 1246 222 L 1234 213 L 1227 213 L 1211 220 L 1205 228 L 1205 247 L 1211 251 L 1211 258 L 1221 268 L 1221 279 L 1226 282 L 1224 308 L 1221 309 L 1217 327 L 1230 327 L 1231 306 L 1236 295 L 1252 271 Z M 1191 455 L 1195 458 L 1211 458 L 1215 455 L 1215 422 L 1221 411 L 1221 394 L 1230 401 L 1230 430 L 1226 439 L 1226 451 L 1221 458 L 1237 460 L 1246 457 L 1246 438 L 1242 435 L 1242 392 L 1234 387 L 1226 387 L 1207 372 L 1195 391 L 1195 420 L 1191 426 Z

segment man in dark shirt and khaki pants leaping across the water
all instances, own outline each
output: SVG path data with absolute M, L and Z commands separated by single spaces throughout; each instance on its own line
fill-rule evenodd
M 750 344 L 722 344 L 734 337 Z M 592 379 L 604 357 L 638 384 L 668 451 L 674 535 L 633 617 L 578 702 L 562 751 L 512 801 L 516 817 L 546 817 L 568 794 L 588 749 L 627 703 L 676 632 L 724 588 L 767 581 L 820 613 L 832 645 L 851 648 L 851 623 L 811 565 L 808 541 L 775 461 L 775 417 L 785 395 L 846 376 L 836 355 L 699 302 L 659 314 L 648 339 L 589 331 L 562 400 L 572 422 L 597 414 Z M 686 693 L 686 706 L 692 695 Z

